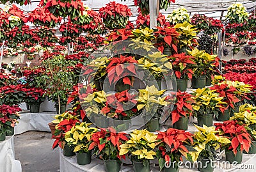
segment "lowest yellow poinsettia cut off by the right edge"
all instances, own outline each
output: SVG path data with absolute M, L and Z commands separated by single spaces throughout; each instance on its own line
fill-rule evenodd
M 230 120 L 236 120 L 239 125 L 244 125 L 247 132 L 252 136 L 252 144 L 249 154 L 256 153 L 256 107 L 250 104 L 240 106 L 239 112 L 234 113 Z

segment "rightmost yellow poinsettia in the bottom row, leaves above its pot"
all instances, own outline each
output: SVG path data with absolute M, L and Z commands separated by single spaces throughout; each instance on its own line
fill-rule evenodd
M 220 148 L 221 143 L 231 143 L 226 137 L 216 136 L 219 131 L 215 130 L 215 127 L 207 127 L 206 125 L 203 127 L 195 125 L 195 127 L 198 130 L 193 135 L 193 148 L 196 151 L 189 152 L 194 162 L 201 159 L 214 160 L 214 153 Z

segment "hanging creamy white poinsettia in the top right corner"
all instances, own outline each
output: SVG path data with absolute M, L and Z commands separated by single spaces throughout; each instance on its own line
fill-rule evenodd
M 227 20 L 231 24 L 237 23 L 240 24 L 244 21 L 247 21 L 249 13 L 246 11 L 246 8 L 241 3 L 234 3 L 228 7 Z

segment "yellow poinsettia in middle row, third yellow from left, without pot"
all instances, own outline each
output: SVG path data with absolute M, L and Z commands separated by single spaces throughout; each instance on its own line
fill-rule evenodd
M 218 111 L 224 111 L 223 97 L 220 97 L 216 90 L 211 90 L 210 88 L 198 88 L 192 93 L 194 95 L 193 100 L 195 104 L 192 105 L 195 110 L 195 114 L 216 114 Z

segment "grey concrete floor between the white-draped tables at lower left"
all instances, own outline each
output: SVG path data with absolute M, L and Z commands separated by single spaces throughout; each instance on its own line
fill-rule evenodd
M 59 149 L 52 150 L 51 132 L 29 131 L 14 136 L 15 159 L 22 172 L 60 171 Z

